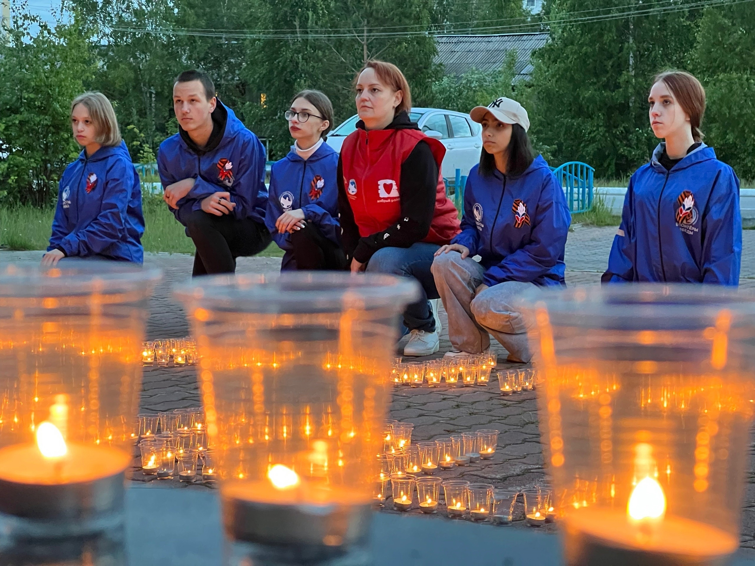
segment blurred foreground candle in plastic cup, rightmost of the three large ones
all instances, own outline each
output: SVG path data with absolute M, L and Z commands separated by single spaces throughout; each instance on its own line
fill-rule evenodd
M 753 295 L 609 285 L 522 308 L 568 564 L 726 564 L 755 398 Z

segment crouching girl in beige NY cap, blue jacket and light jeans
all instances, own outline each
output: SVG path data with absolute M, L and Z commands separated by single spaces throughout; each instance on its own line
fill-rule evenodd
M 448 312 L 446 355 L 482 352 L 490 333 L 509 361 L 528 362 L 524 321 L 511 305 L 530 289 L 565 286 L 569 208 L 544 158 L 533 158 L 521 104 L 501 97 L 470 117 L 482 125 L 479 165 L 464 189 L 461 233 L 436 252 L 432 267 Z

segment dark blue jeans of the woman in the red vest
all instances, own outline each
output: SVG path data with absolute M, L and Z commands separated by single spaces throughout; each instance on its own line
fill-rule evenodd
M 419 281 L 422 289 L 420 300 L 411 303 L 404 311 L 404 325 L 410 331 L 435 331 L 433 309 L 427 300 L 440 297 L 435 288 L 435 278 L 430 272 L 433 254 L 438 248 L 439 245 L 427 244 L 424 241 L 418 241 L 408 248 L 381 248 L 372 254 L 367 263 L 368 273 L 390 273 L 413 277 Z

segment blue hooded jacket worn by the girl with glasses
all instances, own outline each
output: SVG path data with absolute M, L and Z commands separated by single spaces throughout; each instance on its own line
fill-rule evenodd
M 265 224 L 278 247 L 285 251 L 282 270 L 296 269 L 291 234 L 281 234 L 276 229 L 276 220 L 285 211 L 301 208 L 307 222 L 317 226 L 325 238 L 341 245 L 337 169 L 338 154 L 327 143 L 322 143 L 307 161 L 291 149 L 273 163 Z

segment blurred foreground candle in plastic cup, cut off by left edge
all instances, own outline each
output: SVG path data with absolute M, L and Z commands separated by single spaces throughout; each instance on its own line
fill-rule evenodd
M 95 261 L 0 268 L 4 548 L 122 520 L 138 434 L 144 307 L 158 279 L 159 272 Z

